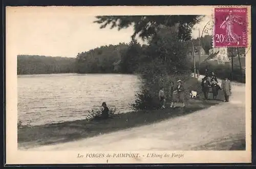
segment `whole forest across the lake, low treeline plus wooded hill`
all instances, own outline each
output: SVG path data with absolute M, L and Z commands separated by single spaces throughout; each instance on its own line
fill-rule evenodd
M 105 45 L 78 53 L 76 58 L 18 55 L 17 74 L 121 73 L 121 55 L 126 53 L 128 46 L 125 43 Z

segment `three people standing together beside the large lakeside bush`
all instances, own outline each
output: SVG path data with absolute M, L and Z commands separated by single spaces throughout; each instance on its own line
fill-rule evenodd
M 163 87 L 159 91 L 159 100 L 160 100 L 161 108 L 165 108 L 166 96 L 165 96 Z M 181 80 L 177 81 L 176 87 L 174 86 L 174 82 L 170 82 L 169 100 L 170 100 L 170 108 L 175 108 L 176 103 L 178 102 L 182 103 L 182 107 L 185 107 L 184 87 L 181 84 Z

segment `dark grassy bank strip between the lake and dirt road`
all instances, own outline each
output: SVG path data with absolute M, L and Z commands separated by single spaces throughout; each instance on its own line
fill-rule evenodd
M 116 114 L 113 118 L 100 121 L 82 119 L 73 122 L 23 127 L 18 129 L 18 147 L 31 148 L 47 144 L 74 141 L 113 131 L 152 124 L 164 119 L 193 113 L 220 102 L 221 101 L 190 99 L 187 101 L 185 108 L 141 110 Z

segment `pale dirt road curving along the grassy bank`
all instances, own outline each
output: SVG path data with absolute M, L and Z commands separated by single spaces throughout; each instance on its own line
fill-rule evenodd
M 232 83 L 221 103 L 160 123 L 29 151 L 230 150 L 245 139 L 245 85 Z

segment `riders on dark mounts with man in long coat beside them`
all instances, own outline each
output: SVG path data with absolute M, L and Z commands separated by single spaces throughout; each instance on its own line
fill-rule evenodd
M 214 100 L 217 99 L 217 95 L 219 93 L 219 90 L 223 90 L 225 100 L 224 102 L 229 102 L 229 95 L 231 94 L 231 83 L 228 80 L 228 78 L 225 78 L 224 81 L 222 81 L 221 86 L 218 83 L 217 77 L 215 76 L 215 73 L 212 72 L 211 75 L 206 74 L 205 77 L 202 79 L 202 90 L 204 93 L 204 99 L 208 100 L 208 93 L 211 89 L 212 96 Z

